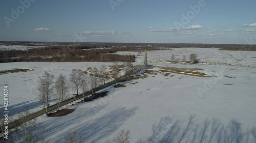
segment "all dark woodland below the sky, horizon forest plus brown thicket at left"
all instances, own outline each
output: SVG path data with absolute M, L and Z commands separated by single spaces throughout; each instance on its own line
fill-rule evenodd
M 172 50 L 197 47 L 220 50 L 256 51 L 256 45 L 227 44 L 153 44 L 153 43 L 70 43 L 70 42 L 0 42 L 0 45 L 44 46 L 28 50 L 1 50 L 0 63 L 7 62 L 134 62 L 135 55 L 117 51 Z

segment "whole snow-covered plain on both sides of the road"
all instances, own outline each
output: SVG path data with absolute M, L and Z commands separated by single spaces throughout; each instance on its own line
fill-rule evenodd
M 40 116 L 37 121 L 38 128 L 42 130 L 38 133 L 49 142 L 63 142 L 68 132 L 82 135 L 84 141 L 103 142 L 115 137 L 121 129 L 127 129 L 131 131 L 131 142 L 136 142 L 138 139 L 156 142 L 166 134 L 166 131 L 162 131 L 163 128 L 159 128 L 160 125 L 172 128 L 177 123 L 179 127 L 185 128 L 191 115 L 195 115 L 193 121 L 198 124 L 203 123 L 207 118 L 218 119 L 223 125 L 236 120 L 241 123 L 243 131 L 250 130 L 256 125 L 256 68 L 252 68 L 256 66 L 256 58 L 254 58 L 256 52 L 239 53 L 208 48 L 174 49 L 148 51 L 149 64 L 176 68 L 200 68 L 204 69 L 204 73 L 208 76 L 214 75 L 216 78 L 171 73 L 170 75 L 174 76 L 157 74 L 134 79 L 122 83 L 126 85 L 124 88 L 109 87 L 102 90 L 109 91 L 108 96 L 104 98 L 63 107 L 75 108 L 75 111 L 67 116 L 54 118 Z M 138 52 L 132 51 L 119 53 L 138 55 Z M 177 60 L 182 59 L 183 55 L 188 59 L 190 53 L 197 53 L 200 62 L 206 63 L 170 64 L 170 56 L 173 53 Z M 142 52 L 134 65 L 142 64 L 143 60 Z M 44 74 L 44 70 L 50 71 L 55 78 L 61 73 L 69 77 L 72 69 L 86 71 L 89 67 L 99 67 L 102 64 L 113 65 L 113 63 L 92 62 L 1 63 L 0 71 L 14 68 L 32 69 L 28 72 L 0 75 L 2 81 L 0 88 L 3 88 L 4 84 L 9 85 L 10 115 L 17 115 L 16 113 L 21 112 L 26 106 L 32 112 L 42 107 L 37 99 L 36 79 Z M 209 87 L 206 85 L 209 82 L 214 84 Z M 69 94 L 74 92 L 70 91 Z M 0 98 L 3 99 L 2 96 Z M 3 109 L 2 101 L 0 102 L 1 110 Z M 55 102 L 54 99 L 51 100 L 51 103 Z M 193 135 L 193 133 L 190 134 L 191 130 L 186 136 Z M 178 141 L 177 138 L 173 140 L 173 142 Z

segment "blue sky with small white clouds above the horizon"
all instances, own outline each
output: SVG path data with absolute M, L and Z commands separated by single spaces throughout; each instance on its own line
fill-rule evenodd
M 256 42 L 255 0 L 4 0 L 1 3 L 0 41 Z

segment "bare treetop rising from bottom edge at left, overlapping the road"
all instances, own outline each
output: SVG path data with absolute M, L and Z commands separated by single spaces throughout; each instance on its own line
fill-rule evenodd
M 16 127 L 14 132 L 16 142 L 32 143 L 44 141 L 44 138 L 38 134 L 40 130 L 37 127 L 36 119 L 31 118 L 28 109 L 20 113 L 19 119 L 21 124 Z

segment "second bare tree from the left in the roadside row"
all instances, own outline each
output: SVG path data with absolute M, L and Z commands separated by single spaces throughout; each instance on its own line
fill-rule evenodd
M 68 91 L 67 86 L 67 79 L 62 74 L 59 75 L 58 79 L 55 82 L 55 88 L 57 90 L 57 100 L 58 100 L 58 110 L 59 110 L 59 103 L 64 101 L 66 98 L 66 93 Z

